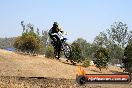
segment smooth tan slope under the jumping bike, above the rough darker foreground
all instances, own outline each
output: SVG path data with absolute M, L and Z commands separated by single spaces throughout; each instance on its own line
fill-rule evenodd
M 83 68 L 88 74 L 112 74 L 122 72 L 120 68 L 111 66 L 101 72 L 95 66 Z M 75 79 L 77 66 L 61 61 L 47 59 L 44 56 L 20 55 L 0 50 L 0 76 L 51 77 Z

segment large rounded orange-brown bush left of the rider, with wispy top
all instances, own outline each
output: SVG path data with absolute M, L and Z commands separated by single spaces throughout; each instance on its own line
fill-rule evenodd
M 23 30 L 22 36 L 16 38 L 14 47 L 22 52 L 27 53 L 39 53 L 42 46 L 42 42 L 37 33 L 34 32 L 34 28 L 31 24 L 26 25 L 27 28 Z M 25 26 L 24 26 L 25 28 Z

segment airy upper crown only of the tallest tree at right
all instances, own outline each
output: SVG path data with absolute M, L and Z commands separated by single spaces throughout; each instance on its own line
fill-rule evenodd
M 109 35 L 109 39 L 121 48 L 124 48 L 132 37 L 132 35 L 128 32 L 127 24 L 122 22 L 115 22 L 111 25 L 111 29 L 107 29 L 107 33 Z

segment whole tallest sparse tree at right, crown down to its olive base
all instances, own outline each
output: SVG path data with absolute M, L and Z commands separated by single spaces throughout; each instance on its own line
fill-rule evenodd
M 132 34 L 128 32 L 128 26 L 122 22 L 115 22 L 111 25 L 111 29 L 107 30 L 107 35 L 111 41 L 109 45 L 111 60 L 121 63 L 124 48 L 128 41 L 132 38 Z M 115 61 L 117 60 L 117 61 Z

